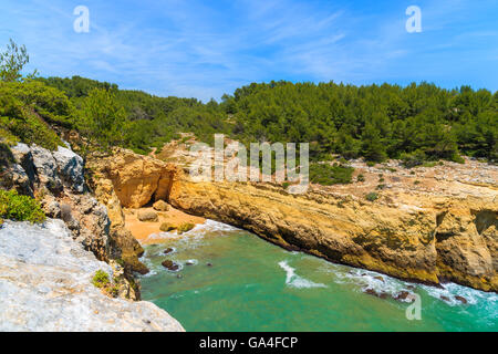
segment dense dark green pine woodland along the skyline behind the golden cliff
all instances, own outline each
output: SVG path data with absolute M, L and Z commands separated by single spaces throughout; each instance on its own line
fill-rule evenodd
M 214 133 L 243 143 L 311 142 L 314 160 L 340 154 L 372 162 L 402 158 L 416 166 L 426 160 L 461 162 L 461 153 L 498 160 L 498 93 L 468 86 L 271 82 L 238 88 L 221 103 L 203 104 L 121 91 L 79 76 L 40 80 L 63 90 L 76 107 L 95 100 L 94 90 L 112 92 L 125 111 L 118 140 L 138 152 L 160 147 L 178 132 L 193 132 L 208 143 Z

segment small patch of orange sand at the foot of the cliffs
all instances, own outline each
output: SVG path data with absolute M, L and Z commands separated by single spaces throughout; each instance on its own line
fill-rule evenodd
M 147 210 L 153 211 L 157 215 L 158 221 L 141 221 L 138 220 L 138 212 Z M 125 227 L 132 232 L 132 235 L 137 239 L 141 243 L 151 244 L 151 243 L 160 243 L 164 239 L 153 239 L 148 238 L 153 233 L 159 233 L 160 225 L 163 222 L 168 222 L 174 226 L 179 226 L 185 222 L 191 223 L 204 223 L 206 221 L 205 218 L 191 216 L 183 212 L 181 210 L 175 209 L 172 206 L 168 206 L 167 211 L 157 211 L 154 208 L 139 208 L 139 209 L 124 209 L 125 215 Z

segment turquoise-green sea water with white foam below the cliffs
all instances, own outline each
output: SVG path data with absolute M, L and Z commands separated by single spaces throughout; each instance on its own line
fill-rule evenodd
M 175 251 L 164 254 L 168 247 Z M 143 260 L 152 272 L 142 278 L 143 299 L 187 331 L 498 331 L 497 294 L 457 284 L 411 284 L 332 264 L 210 220 L 180 239 L 145 249 Z M 166 270 L 165 259 L 181 269 Z M 411 303 L 366 294 L 367 288 L 418 294 L 422 319 L 407 320 Z

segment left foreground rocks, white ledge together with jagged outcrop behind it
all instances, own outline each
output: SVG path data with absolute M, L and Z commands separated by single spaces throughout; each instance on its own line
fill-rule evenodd
M 139 301 L 143 249 L 94 197 L 83 158 L 69 144 L 51 152 L 20 143 L 10 152 L 0 187 L 37 198 L 49 219 L 0 225 L 0 331 L 184 331 Z M 112 293 L 92 284 L 97 270 Z

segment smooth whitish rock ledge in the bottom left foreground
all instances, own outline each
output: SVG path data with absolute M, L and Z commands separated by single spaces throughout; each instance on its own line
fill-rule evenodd
M 111 267 L 73 241 L 61 220 L 0 228 L 0 331 L 185 331 L 146 301 L 111 299 L 92 284 Z

